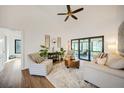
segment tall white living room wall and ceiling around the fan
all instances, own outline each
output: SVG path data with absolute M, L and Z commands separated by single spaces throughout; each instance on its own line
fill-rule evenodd
M 82 6 L 72 6 L 77 9 Z M 105 51 L 108 44 L 117 42 L 118 27 L 124 21 L 124 6 L 83 6 L 84 11 L 75 14 L 79 20 L 57 13 L 65 12 L 65 6 L 0 6 L 0 26 L 22 30 L 24 33 L 24 67 L 28 67 L 28 54 L 39 51 L 45 34 L 62 37 L 62 47 L 70 39 L 105 36 Z

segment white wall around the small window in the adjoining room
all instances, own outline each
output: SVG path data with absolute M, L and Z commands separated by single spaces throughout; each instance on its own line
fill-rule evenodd
M 21 31 L 0 28 L 1 32 L 7 37 L 7 60 L 10 55 L 20 56 L 20 54 L 15 54 L 15 39 L 21 40 Z

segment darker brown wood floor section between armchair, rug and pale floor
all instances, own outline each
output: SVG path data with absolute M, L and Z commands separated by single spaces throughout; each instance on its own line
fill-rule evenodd
M 28 69 L 22 71 L 22 87 L 24 88 L 54 88 L 45 77 L 31 76 Z

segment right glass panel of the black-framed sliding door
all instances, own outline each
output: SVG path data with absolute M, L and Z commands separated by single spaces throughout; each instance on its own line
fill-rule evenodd
M 90 59 L 95 59 L 99 53 L 103 52 L 103 38 L 91 38 Z

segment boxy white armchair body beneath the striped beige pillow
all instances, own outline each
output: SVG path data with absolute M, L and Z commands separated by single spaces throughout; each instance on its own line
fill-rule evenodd
M 44 60 L 42 63 L 37 64 L 32 62 L 29 67 L 30 75 L 46 76 L 50 73 L 53 67 L 51 59 Z

